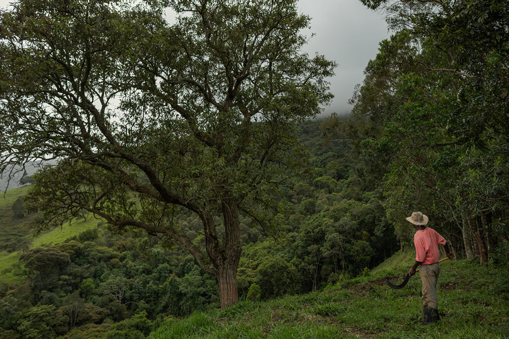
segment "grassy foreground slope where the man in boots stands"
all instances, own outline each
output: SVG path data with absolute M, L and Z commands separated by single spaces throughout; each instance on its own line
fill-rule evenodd
M 409 251 L 410 252 L 410 251 Z M 406 253 L 397 253 L 407 256 Z M 411 257 L 407 258 L 412 262 Z M 382 271 L 400 269 L 386 262 Z M 377 273 L 379 271 L 379 273 Z M 501 269 L 466 260 L 442 263 L 438 286 L 439 325 L 420 325 L 418 273 L 401 290 L 385 284 L 385 273 L 342 281 L 320 292 L 265 302 L 243 301 L 166 321 L 151 333 L 159 338 L 503 338 L 509 335 L 509 277 Z

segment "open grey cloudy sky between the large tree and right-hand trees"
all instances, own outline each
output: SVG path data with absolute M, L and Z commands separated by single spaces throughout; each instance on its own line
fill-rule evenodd
M 10 0 L 0 0 L 5 8 Z M 359 0 L 299 0 L 302 13 L 312 18 L 307 36 L 315 33 L 305 51 L 315 52 L 335 61 L 336 75 L 330 79 L 334 99 L 325 107 L 324 115 L 342 115 L 350 111 L 355 84 L 362 83 L 363 70 L 378 51 L 378 43 L 389 37 L 387 24 L 381 14 L 364 7 Z

